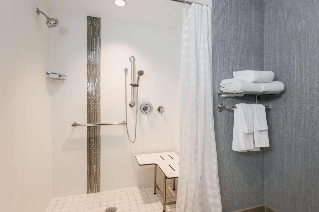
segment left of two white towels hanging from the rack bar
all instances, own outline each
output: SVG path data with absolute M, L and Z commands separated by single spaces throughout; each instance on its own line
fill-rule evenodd
M 247 152 L 254 149 L 253 111 L 249 104 L 237 104 L 236 107 L 232 149 L 237 152 Z

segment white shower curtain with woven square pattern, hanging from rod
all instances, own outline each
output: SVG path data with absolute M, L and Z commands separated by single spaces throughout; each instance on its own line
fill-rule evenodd
M 222 211 L 212 111 L 211 8 L 184 8 L 176 210 Z

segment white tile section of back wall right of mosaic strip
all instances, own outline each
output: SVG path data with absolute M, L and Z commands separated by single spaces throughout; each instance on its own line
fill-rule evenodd
M 101 121 L 125 120 L 124 68 L 129 69 L 129 84 L 130 55 L 136 58 L 136 71 L 145 72 L 139 86 L 138 108 L 145 101 L 154 107 L 148 116 L 138 110 L 134 144 L 127 139 L 125 127 L 101 128 L 101 191 L 152 183 L 153 167 L 138 166 L 134 155 L 174 151 L 179 35 L 177 29 L 101 19 Z M 130 86 L 127 89 L 130 102 Z M 165 107 L 162 116 L 156 111 L 159 105 Z M 128 127 L 133 138 L 135 113 L 136 107 L 128 107 Z M 159 172 L 162 179 L 160 175 Z

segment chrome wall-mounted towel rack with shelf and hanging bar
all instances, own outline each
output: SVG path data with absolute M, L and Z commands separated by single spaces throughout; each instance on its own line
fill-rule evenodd
M 224 106 L 224 97 L 222 94 L 247 94 L 247 95 L 255 95 L 256 96 L 256 104 L 260 104 L 260 96 L 261 95 L 273 95 L 280 94 L 280 92 L 255 92 L 255 91 L 234 91 L 234 92 L 222 92 L 220 89 L 218 90 L 218 99 L 217 99 L 217 110 L 222 112 L 224 108 L 228 109 L 236 109 L 236 106 Z M 269 108 L 265 106 L 265 108 Z

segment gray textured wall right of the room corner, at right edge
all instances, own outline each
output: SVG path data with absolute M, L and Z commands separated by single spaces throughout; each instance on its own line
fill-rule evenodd
M 264 26 L 264 69 L 286 86 L 266 98 L 265 203 L 280 212 L 319 211 L 319 2 L 267 0 Z

